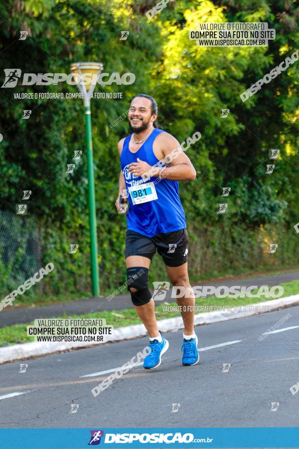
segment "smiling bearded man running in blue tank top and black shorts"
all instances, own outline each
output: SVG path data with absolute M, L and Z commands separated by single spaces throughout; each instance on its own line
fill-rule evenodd
M 128 196 L 124 199 L 129 203 L 125 248 L 128 290 L 150 337 L 151 353 L 143 364 L 146 369 L 159 366 L 162 354 L 169 347 L 158 330 L 148 286 L 149 267 L 156 250 L 164 260 L 172 285 L 191 287 L 187 270 L 188 233 L 178 181 L 192 181 L 196 177 L 195 168 L 179 142 L 157 129 L 157 115 L 153 97 L 141 94 L 133 98 L 128 113 L 132 134 L 118 142 L 121 171 L 115 203 L 120 212 L 120 195 Z M 177 298 L 184 323 L 183 365 L 195 365 L 199 361 L 194 332 L 195 298 L 190 290 L 187 288 L 188 293 Z

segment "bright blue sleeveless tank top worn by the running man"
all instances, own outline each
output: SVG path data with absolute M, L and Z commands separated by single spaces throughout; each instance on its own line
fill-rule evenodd
M 160 180 L 151 177 L 143 181 L 141 177 L 132 177 L 128 171 L 128 165 L 137 162 L 137 158 L 153 166 L 159 162 L 153 152 L 153 142 L 158 134 L 164 132 L 157 128 L 141 145 L 136 153 L 129 150 L 131 134 L 124 140 L 123 150 L 120 155 L 121 169 L 124 175 L 126 189 L 131 186 L 154 182 L 157 199 L 143 204 L 132 204 L 131 196 L 128 196 L 129 212 L 127 214 L 127 229 L 135 231 L 147 237 L 154 237 L 159 233 L 179 231 L 186 228 L 184 209 L 179 197 L 178 181 L 169 179 Z M 165 164 L 160 164 L 165 167 Z

